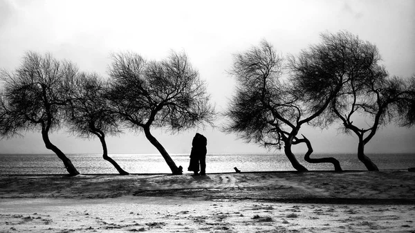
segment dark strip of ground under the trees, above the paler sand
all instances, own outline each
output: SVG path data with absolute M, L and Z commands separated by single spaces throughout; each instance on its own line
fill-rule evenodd
M 47 184 L 47 185 L 45 185 Z M 183 174 L 1 175 L 0 198 L 163 196 L 298 203 L 415 204 L 415 173 L 259 171 Z

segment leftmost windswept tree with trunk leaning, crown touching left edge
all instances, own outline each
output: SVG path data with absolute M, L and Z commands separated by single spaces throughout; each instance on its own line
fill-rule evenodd
M 47 149 L 64 162 L 68 173 L 79 174 L 71 160 L 50 142 L 49 133 L 60 128 L 64 106 L 68 103 L 67 82 L 77 75 L 71 62 L 58 61 L 52 55 L 28 52 L 15 72 L 2 70 L 4 82 L 1 98 L 0 131 L 3 136 L 19 135 L 20 131 L 41 131 Z

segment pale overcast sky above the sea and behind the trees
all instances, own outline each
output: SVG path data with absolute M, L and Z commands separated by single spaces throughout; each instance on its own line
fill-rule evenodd
M 232 54 L 268 40 L 282 55 L 320 41 L 321 32 L 348 30 L 378 46 L 391 75 L 415 73 L 415 1 L 9 1 L 0 0 L 0 67 L 17 68 L 26 50 L 69 59 L 81 71 L 107 75 L 109 53 L 131 50 L 161 59 L 184 50 L 218 111 L 234 91 L 226 70 Z M 339 134 L 335 125 L 304 128 L 316 152 L 353 153 L 357 138 Z M 263 153 L 219 129 L 194 129 L 154 135 L 169 153 L 190 153 L 195 132 L 208 138 L 208 153 Z M 367 153 L 415 152 L 415 129 L 382 128 Z M 53 133 L 64 153 L 101 153 L 99 140 Z M 126 132 L 107 139 L 109 153 L 158 153 L 142 134 Z M 304 151 L 295 147 L 294 151 Z M 50 153 L 39 133 L 0 140 L 0 153 Z

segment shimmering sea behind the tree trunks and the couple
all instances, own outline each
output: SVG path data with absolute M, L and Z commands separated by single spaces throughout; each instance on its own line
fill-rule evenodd
M 102 154 L 67 154 L 81 174 L 118 174 L 118 171 L 102 158 Z M 111 154 L 130 174 L 169 174 L 167 163 L 160 154 Z M 170 155 L 185 173 L 189 165 L 188 154 Z M 380 170 L 403 170 L 415 167 L 415 153 L 367 154 Z M 315 153 L 312 158 L 337 158 L 344 170 L 365 171 L 353 153 Z M 310 164 L 299 156 L 299 162 L 308 170 L 333 171 L 329 163 Z M 209 154 L 206 156 L 206 173 L 241 171 L 295 171 L 282 153 L 267 154 Z M 67 174 L 63 162 L 55 154 L 0 154 L 0 175 Z

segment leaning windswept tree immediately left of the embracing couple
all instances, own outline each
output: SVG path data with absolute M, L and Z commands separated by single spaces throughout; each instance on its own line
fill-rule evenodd
M 131 129 L 145 136 L 163 156 L 173 174 L 182 174 L 151 128 L 172 133 L 210 123 L 214 108 L 206 84 L 184 53 L 147 62 L 136 53 L 116 53 L 109 69 L 112 78 L 109 100 Z

